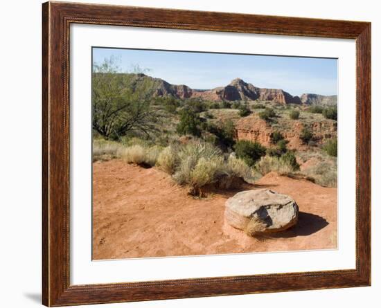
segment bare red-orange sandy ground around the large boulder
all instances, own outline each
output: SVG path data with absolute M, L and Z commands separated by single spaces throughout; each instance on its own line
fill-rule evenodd
M 289 194 L 300 212 L 296 226 L 256 239 L 224 222 L 224 203 L 236 192 L 195 199 L 156 168 L 118 160 L 93 167 L 94 260 L 337 248 L 336 188 L 263 176 L 249 189 Z

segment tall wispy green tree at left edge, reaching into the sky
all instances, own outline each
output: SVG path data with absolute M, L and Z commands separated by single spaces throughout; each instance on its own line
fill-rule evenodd
M 150 99 L 125 86 L 113 57 L 94 64 L 92 74 L 92 127 L 106 139 L 118 139 L 127 132 L 150 136 L 156 130 L 158 114 Z

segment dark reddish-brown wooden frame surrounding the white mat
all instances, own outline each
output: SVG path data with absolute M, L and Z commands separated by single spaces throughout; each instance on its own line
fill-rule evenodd
M 371 284 L 371 24 L 129 6 L 42 5 L 42 302 L 85 305 Z M 116 25 L 355 39 L 357 48 L 356 268 L 71 285 L 69 280 L 69 26 Z

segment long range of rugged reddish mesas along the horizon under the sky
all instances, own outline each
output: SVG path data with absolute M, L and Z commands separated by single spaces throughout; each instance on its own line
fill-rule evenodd
M 184 84 L 170 84 L 166 80 L 153 78 L 143 73 L 125 73 L 126 87 L 133 91 L 144 91 L 152 96 L 173 96 L 175 98 L 202 98 L 204 100 L 268 100 L 281 104 L 335 105 L 337 96 L 321 96 L 305 93 L 300 98 L 292 96 L 283 89 L 265 89 L 255 87 L 240 78 L 236 78 L 225 87 L 215 89 L 191 89 Z

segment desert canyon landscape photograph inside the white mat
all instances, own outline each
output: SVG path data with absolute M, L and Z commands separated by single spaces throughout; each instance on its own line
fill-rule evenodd
M 337 249 L 337 58 L 91 61 L 93 260 Z

